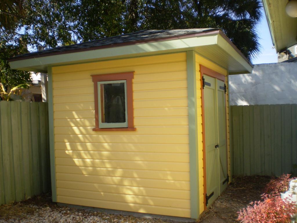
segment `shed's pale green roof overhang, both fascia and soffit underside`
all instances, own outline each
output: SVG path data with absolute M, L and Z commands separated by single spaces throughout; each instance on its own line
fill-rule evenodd
M 222 33 L 212 31 L 175 38 L 115 44 L 84 51 L 64 52 L 37 57 L 12 58 L 10 67 L 17 70 L 47 73 L 48 67 L 100 60 L 121 59 L 194 50 L 229 71 L 229 74 L 252 73 L 252 64 Z

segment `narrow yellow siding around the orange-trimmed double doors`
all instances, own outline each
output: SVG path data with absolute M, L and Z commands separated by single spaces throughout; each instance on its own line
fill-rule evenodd
M 204 195 L 203 195 L 203 140 L 202 140 L 202 108 L 201 108 L 201 79 L 200 79 L 200 65 L 210 68 L 218 73 L 227 76 L 227 70 L 219 67 L 215 63 L 203 58 L 202 56 L 196 54 L 196 87 L 197 87 L 197 115 L 198 115 L 198 154 L 199 154 L 199 209 L 200 213 L 204 211 Z M 227 85 L 227 84 L 226 84 Z M 228 112 L 228 91 L 226 94 L 226 105 Z M 227 135 L 228 135 L 228 172 L 230 176 L 230 149 L 229 149 L 229 119 L 227 114 Z

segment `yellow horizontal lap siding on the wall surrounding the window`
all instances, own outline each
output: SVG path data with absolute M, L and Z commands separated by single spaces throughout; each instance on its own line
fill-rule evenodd
M 92 74 L 135 71 L 136 131 L 94 132 Z M 186 54 L 53 67 L 57 201 L 190 217 Z

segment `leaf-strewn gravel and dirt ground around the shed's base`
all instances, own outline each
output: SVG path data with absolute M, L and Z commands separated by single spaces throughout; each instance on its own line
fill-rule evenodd
M 237 222 L 237 212 L 251 201 L 260 200 L 269 177 L 237 177 L 198 222 Z M 164 219 L 144 219 L 57 206 L 49 194 L 0 206 L 0 223 L 6 222 L 102 222 L 167 223 Z

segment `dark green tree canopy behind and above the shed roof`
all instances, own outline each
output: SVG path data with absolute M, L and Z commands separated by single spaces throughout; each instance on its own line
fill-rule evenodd
M 0 4 L 0 10 L 16 16 L 4 16 L 0 12 L 0 39 L 5 47 L 14 46 L 15 54 L 20 54 L 22 51 L 17 41 L 20 34 L 22 41 L 30 49 L 36 50 L 38 45 L 53 48 L 140 29 L 209 27 L 222 29 L 249 59 L 260 52 L 255 30 L 261 18 L 260 0 L 10 0 L 7 2 Z M 12 49 L 4 52 L 6 53 L 12 55 Z M 7 69 L 5 72 L 8 72 Z

